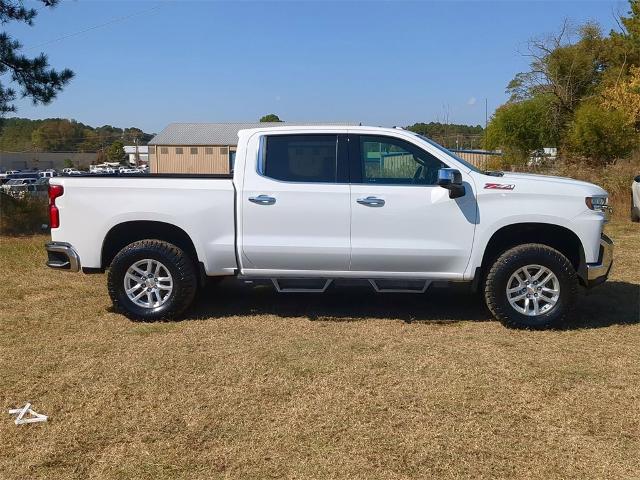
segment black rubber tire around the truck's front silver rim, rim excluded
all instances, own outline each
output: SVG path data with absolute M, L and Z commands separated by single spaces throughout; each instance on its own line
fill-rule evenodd
M 558 279 L 560 292 L 557 303 L 540 315 L 529 316 L 517 311 L 507 298 L 507 282 L 527 265 L 546 267 Z M 530 330 L 562 326 L 571 313 L 577 293 L 578 276 L 567 257 L 551 247 L 536 243 L 520 245 L 500 255 L 489 270 L 484 289 L 487 307 L 497 320 L 509 328 Z

